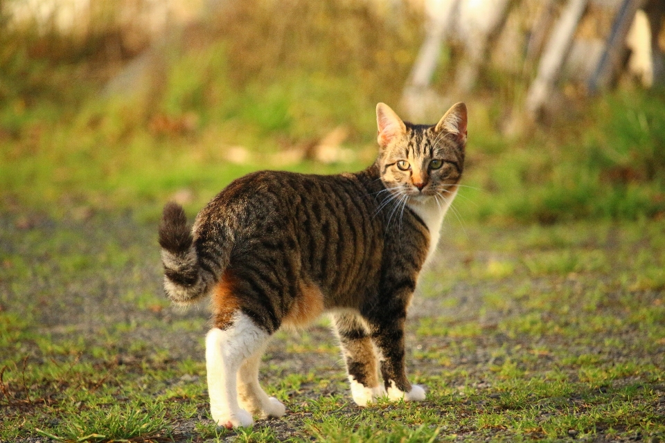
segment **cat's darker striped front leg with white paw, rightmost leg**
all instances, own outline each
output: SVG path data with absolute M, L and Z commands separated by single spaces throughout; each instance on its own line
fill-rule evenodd
M 372 338 L 380 356 L 381 375 L 392 401 L 423 401 L 425 389 L 412 385 L 405 371 L 404 324 L 406 309 L 382 311 L 371 319 Z

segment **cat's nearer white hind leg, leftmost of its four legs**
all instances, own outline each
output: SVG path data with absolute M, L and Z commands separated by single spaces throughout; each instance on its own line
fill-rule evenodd
M 236 375 L 243 361 L 263 349 L 268 334 L 248 316 L 236 311 L 224 329 L 213 328 L 206 336 L 206 369 L 213 420 L 218 426 L 251 426 L 254 420 L 238 405 Z

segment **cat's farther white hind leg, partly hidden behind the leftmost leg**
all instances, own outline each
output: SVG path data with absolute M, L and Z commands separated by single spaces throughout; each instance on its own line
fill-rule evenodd
M 268 397 L 258 383 L 258 366 L 261 363 L 264 347 L 254 352 L 238 370 L 238 401 L 242 408 L 261 418 L 281 417 L 284 405 L 275 397 Z

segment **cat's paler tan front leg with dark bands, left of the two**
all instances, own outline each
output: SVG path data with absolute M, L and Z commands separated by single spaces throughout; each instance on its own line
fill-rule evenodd
M 335 314 L 333 319 L 351 382 L 351 396 L 358 406 L 367 406 L 386 395 L 386 390 L 379 383 L 374 345 L 357 316 Z

